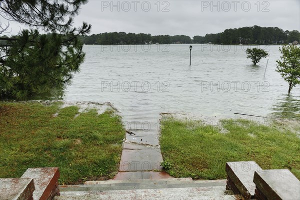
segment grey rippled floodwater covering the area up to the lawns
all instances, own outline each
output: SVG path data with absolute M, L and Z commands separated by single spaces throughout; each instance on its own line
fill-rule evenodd
M 128 129 L 154 132 L 161 112 L 220 118 L 300 112 L 299 85 L 288 96 L 275 72 L 279 46 L 259 47 L 270 54 L 265 77 L 267 59 L 252 66 L 247 46 L 192 46 L 191 66 L 189 45 L 84 46 L 85 62 L 63 99 L 108 101 Z

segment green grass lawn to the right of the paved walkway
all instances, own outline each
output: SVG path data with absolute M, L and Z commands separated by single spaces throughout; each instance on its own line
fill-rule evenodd
M 199 121 L 163 118 L 160 148 L 165 164 L 172 165 L 166 171 L 175 177 L 225 179 L 227 161 L 254 160 L 262 169 L 288 168 L 300 178 L 300 139 L 284 124 L 220 123 L 226 133 Z

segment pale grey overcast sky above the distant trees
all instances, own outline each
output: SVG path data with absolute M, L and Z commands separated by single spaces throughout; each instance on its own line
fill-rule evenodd
M 74 26 L 83 21 L 92 25 L 91 34 L 131 32 L 192 37 L 253 25 L 299 31 L 300 1 L 89 0 L 75 17 Z M 22 26 L 12 23 L 10 27 L 11 34 L 16 34 Z

